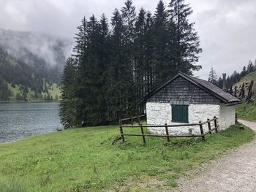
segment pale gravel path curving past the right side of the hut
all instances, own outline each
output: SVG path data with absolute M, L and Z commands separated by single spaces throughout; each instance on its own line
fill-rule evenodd
M 255 122 L 239 122 L 256 131 Z M 175 191 L 256 191 L 256 140 L 206 165 L 192 180 L 179 180 L 178 186 Z

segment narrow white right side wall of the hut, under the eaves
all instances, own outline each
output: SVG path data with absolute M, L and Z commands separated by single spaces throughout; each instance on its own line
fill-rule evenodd
M 221 130 L 225 130 L 235 124 L 235 109 L 235 106 L 220 105 L 219 128 Z

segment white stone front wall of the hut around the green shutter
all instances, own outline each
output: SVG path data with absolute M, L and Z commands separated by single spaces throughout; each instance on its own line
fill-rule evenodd
M 225 106 L 223 106 L 223 109 L 225 109 Z M 188 110 L 189 123 L 198 123 L 199 121 L 206 121 L 207 118 L 219 117 L 222 107 L 218 104 L 189 104 Z M 172 122 L 170 103 L 147 102 L 146 112 L 148 125 L 180 124 Z M 229 112 L 225 112 L 225 117 L 229 118 L 229 122 L 231 122 L 230 116 L 232 115 Z M 224 121 L 222 120 L 222 122 Z M 214 126 L 214 122 L 211 122 L 211 124 Z M 192 134 L 200 134 L 199 126 L 173 127 L 169 128 L 169 132 L 170 134 L 189 134 L 189 129 L 192 130 Z M 208 125 L 203 125 L 203 129 L 208 131 Z M 165 134 L 165 128 L 148 128 L 148 132 L 151 134 Z

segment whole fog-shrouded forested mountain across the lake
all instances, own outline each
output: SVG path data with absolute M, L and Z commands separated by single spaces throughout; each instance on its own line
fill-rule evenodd
M 0 101 L 59 99 L 71 47 L 70 39 L 0 29 Z

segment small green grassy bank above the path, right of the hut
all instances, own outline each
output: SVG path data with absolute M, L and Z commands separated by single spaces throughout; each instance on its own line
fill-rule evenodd
M 236 106 L 238 118 L 244 120 L 256 121 L 256 101 L 252 103 L 244 102 Z

